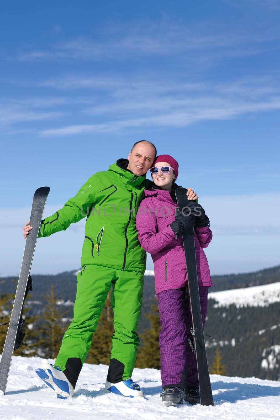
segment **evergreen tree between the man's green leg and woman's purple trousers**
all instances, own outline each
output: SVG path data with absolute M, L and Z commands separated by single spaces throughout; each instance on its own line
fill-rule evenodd
M 159 346 L 159 333 L 160 333 L 160 314 L 157 304 L 151 305 L 152 312 L 147 318 L 150 321 L 150 328 L 147 328 L 141 335 L 143 345 L 139 347 L 136 358 L 136 367 L 153 367 L 160 369 L 160 346 Z

